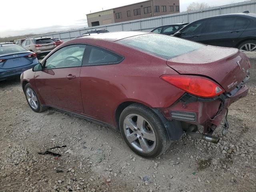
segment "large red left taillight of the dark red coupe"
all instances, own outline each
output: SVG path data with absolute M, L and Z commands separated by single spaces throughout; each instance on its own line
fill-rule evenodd
M 164 75 L 162 80 L 188 93 L 200 97 L 214 97 L 224 92 L 224 89 L 212 80 L 199 76 Z

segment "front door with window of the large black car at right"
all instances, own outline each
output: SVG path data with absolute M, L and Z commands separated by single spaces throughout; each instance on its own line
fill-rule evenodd
M 204 20 L 191 23 L 179 31 L 178 37 L 196 42 L 202 42 L 203 39 L 201 37 L 201 30 L 204 27 L 204 24 Z M 177 36 L 177 34 L 175 34 L 175 36 Z

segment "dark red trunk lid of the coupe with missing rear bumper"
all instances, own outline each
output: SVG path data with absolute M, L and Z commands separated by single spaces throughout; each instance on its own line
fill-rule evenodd
M 249 61 L 236 48 L 206 46 L 167 60 L 180 74 L 206 76 L 230 92 L 248 75 Z

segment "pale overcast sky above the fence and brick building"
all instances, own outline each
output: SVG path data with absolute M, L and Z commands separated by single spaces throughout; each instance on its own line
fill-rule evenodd
M 1 0 L 0 37 L 39 34 L 87 27 L 86 14 L 143 0 Z M 180 10 L 191 2 L 210 6 L 244 0 L 180 0 Z

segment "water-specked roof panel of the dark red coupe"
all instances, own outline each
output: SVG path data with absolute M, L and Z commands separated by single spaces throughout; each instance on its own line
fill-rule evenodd
M 101 33 L 98 35 L 92 35 L 92 36 L 84 36 L 81 38 L 94 38 L 94 39 L 102 39 L 102 40 L 108 40 L 108 41 L 117 41 L 120 39 L 142 35 L 142 34 L 148 34 L 147 32 L 136 32 L 136 31 L 121 31 L 121 32 L 109 32 L 109 33 Z

